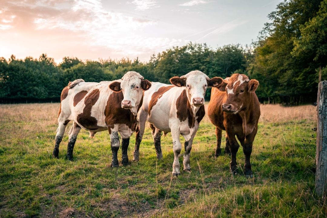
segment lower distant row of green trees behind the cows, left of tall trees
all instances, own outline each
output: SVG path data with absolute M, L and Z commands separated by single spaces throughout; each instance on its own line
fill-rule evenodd
M 234 71 L 246 69 L 245 51 L 239 44 L 226 45 L 212 50 L 206 44 L 189 43 L 173 47 L 149 62 L 123 58 L 113 61 L 99 61 L 64 57 L 57 66 L 52 58 L 42 54 L 39 59 L 27 57 L 9 61 L 0 59 L 0 101 L 60 101 L 60 93 L 69 81 L 82 78 L 86 82 L 100 82 L 120 79 L 128 71 L 136 71 L 153 82 L 170 83 L 173 76 L 185 75 L 200 70 L 209 77 L 230 76 Z M 206 100 L 209 100 L 208 89 Z

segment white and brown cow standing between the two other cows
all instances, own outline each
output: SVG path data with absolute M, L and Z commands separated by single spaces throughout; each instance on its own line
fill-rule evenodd
M 178 155 L 181 152 L 180 135 L 185 139 L 184 171 L 190 172 L 190 151 L 204 111 L 204 94 L 208 86 L 218 86 L 222 78 L 210 79 L 201 71 L 191 71 L 181 77 L 170 79 L 173 85 L 152 82 L 144 93 L 142 107 L 138 113 L 139 126 L 136 129 L 134 160 L 139 159 L 146 118 L 152 128 L 152 137 L 157 158 L 162 159 L 161 132 L 171 132 L 173 138 L 173 176 L 180 174 Z

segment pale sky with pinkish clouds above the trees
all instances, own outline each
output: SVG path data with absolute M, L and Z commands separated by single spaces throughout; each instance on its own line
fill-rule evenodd
M 0 57 L 138 59 L 189 42 L 250 45 L 282 0 L 0 0 Z

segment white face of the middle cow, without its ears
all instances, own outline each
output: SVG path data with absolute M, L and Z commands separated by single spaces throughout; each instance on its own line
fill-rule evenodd
M 191 105 L 196 107 L 204 105 L 204 95 L 207 90 L 205 75 L 190 75 L 186 79 L 186 95 Z

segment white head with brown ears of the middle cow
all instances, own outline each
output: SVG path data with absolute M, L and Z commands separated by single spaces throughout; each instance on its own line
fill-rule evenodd
M 208 86 L 215 87 L 222 82 L 222 78 L 214 77 L 210 79 L 201 71 L 195 70 L 181 77 L 170 78 L 171 84 L 185 87 L 188 101 L 191 105 L 200 107 L 204 105 L 204 94 Z

